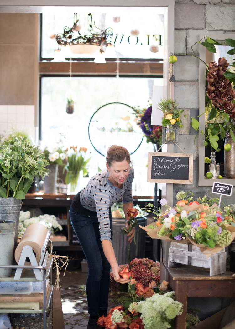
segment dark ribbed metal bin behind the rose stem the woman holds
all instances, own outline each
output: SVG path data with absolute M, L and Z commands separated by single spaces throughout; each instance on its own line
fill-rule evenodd
M 146 232 L 142 230 L 139 225 L 146 226 L 147 219 L 140 217 L 138 218 L 138 224 L 135 227 L 135 240 L 131 242 L 130 247 L 130 260 L 134 258 L 145 257 L 145 238 Z M 128 263 L 128 249 L 129 243 L 127 242 L 126 234 L 121 233 L 122 227 L 125 226 L 125 218 L 113 218 L 113 248 L 118 265 Z

